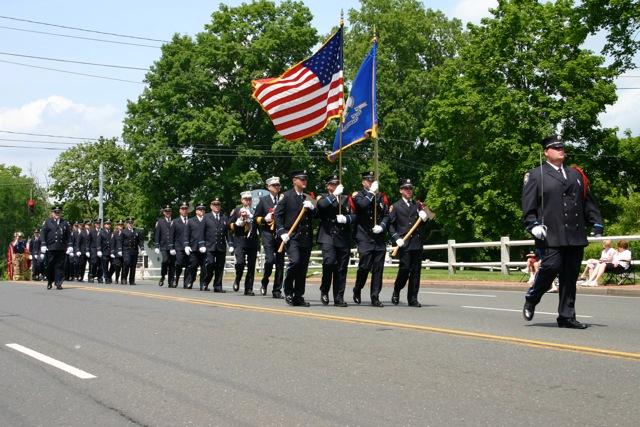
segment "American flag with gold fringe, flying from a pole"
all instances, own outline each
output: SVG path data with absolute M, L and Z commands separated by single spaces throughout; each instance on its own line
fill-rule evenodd
M 286 140 L 320 132 L 342 114 L 342 27 L 312 57 L 280 77 L 252 83 L 253 97 Z

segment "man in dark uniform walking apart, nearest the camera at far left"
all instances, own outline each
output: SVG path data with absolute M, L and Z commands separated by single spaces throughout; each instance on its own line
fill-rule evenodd
M 61 208 L 53 206 L 51 217 L 42 224 L 40 232 L 40 252 L 47 258 L 47 289 L 55 283 L 62 289 L 64 280 L 64 259 L 73 252 L 71 226 L 60 217 Z

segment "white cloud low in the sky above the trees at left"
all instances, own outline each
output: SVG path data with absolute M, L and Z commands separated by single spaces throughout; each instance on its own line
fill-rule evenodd
M 114 137 L 120 136 L 122 133 L 123 115 L 123 111 L 112 105 L 85 105 L 54 95 L 37 99 L 19 107 L 0 107 L 0 130 L 82 138 Z M 69 139 L 15 135 L 2 132 L 0 132 L 0 138 L 74 142 L 74 140 Z M 19 141 L 0 141 L 0 145 L 65 147 L 55 144 L 47 145 Z M 49 168 L 60 153 L 61 151 L 53 150 L 0 147 L 0 163 L 18 166 L 25 173 L 33 173 L 41 183 L 44 183 Z

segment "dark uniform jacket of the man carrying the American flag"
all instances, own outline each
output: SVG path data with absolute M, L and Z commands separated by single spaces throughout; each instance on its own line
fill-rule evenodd
M 318 228 L 318 243 L 332 244 L 338 248 L 351 247 L 351 223 L 355 221 L 355 215 L 351 212 L 351 207 L 346 197 L 340 196 L 342 203 L 342 215 L 347 217 L 346 224 L 339 224 L 338 198 L 330 194 L 322 194 L 318 198 L 316 209 L 320 218 Z

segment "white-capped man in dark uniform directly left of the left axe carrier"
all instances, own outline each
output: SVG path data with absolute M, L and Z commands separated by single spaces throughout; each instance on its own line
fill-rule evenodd
M 282 279 L 284 277 L 284 252 L 278 252 L 282 240 L 276 234 L 275 209 L 282 198 L 280 194 L 280 178 L 272 176 L 266 181 L 269 194 L 262 196 L 256 206 L 256 224 L 260 227 L 262 249 L 264 251 L 264 274 L 262 275 L 260 293 L 267 294 L 269 278 L 275 265 L 272 295 L 282 298 Z

